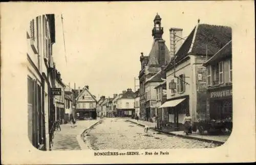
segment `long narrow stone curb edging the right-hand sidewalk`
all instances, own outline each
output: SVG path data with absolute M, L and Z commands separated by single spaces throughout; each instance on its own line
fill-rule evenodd
M 130 120 L 127 120 L 127 121 L 132 122 L 134 124 L 138 124 L 138 123 L 130 121 Z M 144 125 L 142 125 L 142 124 L 138 124 L 138 125 L 144 127 Z M 225 142 L 221 142 L 221 141 L 218 141 L 218 140 L 210 140 L 210 139 L 194 137 L 194 136 L 189 136 L 189 135 L 187 136 L 187 135 L 181 135 L 181 134 L 172 133 L 172 132 L 165 132 L 165 131 L 162 131 L 162 130 L 154 129 L 152 127 L 150 129 L 154 130 L 154 131 L 158 131 L 158 132 L 164 133 L 164 134 L 179 136 L 179 137 L 188 138 L 188 139 L 200 140 L 202 142 L 208 142 L 208 143 L 213 143 L 213 144 L 218 144 L 218 145 L 223 145 L 225 143 Z

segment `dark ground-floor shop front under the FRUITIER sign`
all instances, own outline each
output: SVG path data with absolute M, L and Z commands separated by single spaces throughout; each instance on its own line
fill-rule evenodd
M 208 89 L 209 115 L 211 120 L 230 121 L 232 129 L 232 86 Z M 228 123 L 228 122 L 227 122 Z

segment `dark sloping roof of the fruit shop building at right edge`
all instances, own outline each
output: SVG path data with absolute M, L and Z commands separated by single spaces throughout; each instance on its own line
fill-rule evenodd
M 215 61 L 219 61 L 223 58 L 226 57 L 231 57 L 232 56 L 232 40 L 230 40 L 221 50 L 219 50 L 214 56 L 212 56 L 210 59 L 208 59 L 205 63 L 204 66 L 208 66 Z

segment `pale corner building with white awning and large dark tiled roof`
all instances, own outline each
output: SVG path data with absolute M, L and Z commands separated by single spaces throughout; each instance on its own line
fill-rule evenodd
M 207 35 L 206 35 L 207 34 Z M 191 31 L 166 66 L 168 122 L 179 129 L 186 114 L 193 123 L 208 118 L 206 68 L 203 63 L 231 40 L 231 28 L 200 24 Z M 193 128 L 195 130 L 195 128 Z

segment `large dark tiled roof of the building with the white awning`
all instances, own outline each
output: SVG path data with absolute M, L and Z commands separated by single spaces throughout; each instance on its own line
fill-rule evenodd
M 176 53 L 176 62 L 189 54 L 192 55 L 215 55 L 232 38 L 231 28 L 227 26 L 198 24 L 188 35 L 180 49 Z M 168 66 L 172 65 L 170 61 Z

